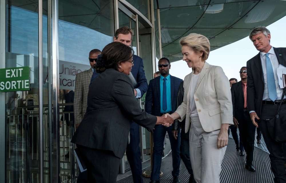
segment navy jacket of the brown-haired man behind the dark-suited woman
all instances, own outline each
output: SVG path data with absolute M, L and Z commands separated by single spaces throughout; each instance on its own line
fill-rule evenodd
M 98 58 L 99 57 L 101 57 L 101 55 L 99 55 Z M 131 73 L 133 74 L 134 78 L 139 84 L 138 89 L 141 91 L 141 97 L 142 97 L 148 88 L 148 82 L 145 77 L 143 59 L 137 55 L 133 55 L 133 60 L 134 60 L 134 65 L 132 67 Z M 96 70 L 94 70 L 91 80 L 90 80 L 90 86 L 97 76 L 98 76 L 98 73 L 96 72 Z

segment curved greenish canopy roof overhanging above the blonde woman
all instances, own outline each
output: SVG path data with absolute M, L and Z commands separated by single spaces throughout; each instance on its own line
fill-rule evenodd
M 286 15 L 285 0 L 157 0 L 154 8 L 160 9 L 162 56 L 171 62 L 182 59 L 178 43 L 190 33 L 206 36 L 212 51 Z

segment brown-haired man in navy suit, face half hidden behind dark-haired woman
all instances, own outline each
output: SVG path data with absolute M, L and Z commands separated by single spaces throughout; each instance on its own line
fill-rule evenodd
M 114 42 L 121 42 L 126 46 L 130 46 L 132 42 L 132 36 L 132 29 L 129 27 L 121 27 L 115 32 Z M 101 57 L 101 55 L 99 55 L 98 58 L 99 57 Z M 134 65 L 132 66 L 131 74 L 134 76 L 138 83 L 138 87 L 134 89 L 134 95 L 136 98 L 141 98 L 148 88 L 148 83 L 144 72 L 143 59 L 137 55 L 133 55 L 133 60 Z M 99 74 L 97 72 L 93 72 L 90 85 L 98 75 Z M 132 121 L 130 128 L 130 143 L 126 148 L 126 156 L 130 164 L 134 183 L 143 183 L 139 135 L 140 126 Z

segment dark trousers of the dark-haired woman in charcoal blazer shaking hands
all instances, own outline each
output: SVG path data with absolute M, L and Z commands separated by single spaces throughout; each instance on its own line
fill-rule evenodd
M 120 166 L 120 158 L 112 151 L 92 149 L 77 145 L 83 155 L 87 166 L 88 182 L 94 183 L 116 183 Z

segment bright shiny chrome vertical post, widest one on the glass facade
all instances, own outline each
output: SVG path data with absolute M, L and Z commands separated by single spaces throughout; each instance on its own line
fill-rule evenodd
M 60 183 L 59 144 L 59 1 L 52 0 L 52 59 L 53 59 L 53 181 Z

